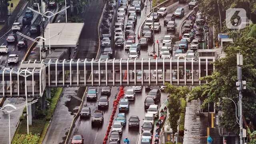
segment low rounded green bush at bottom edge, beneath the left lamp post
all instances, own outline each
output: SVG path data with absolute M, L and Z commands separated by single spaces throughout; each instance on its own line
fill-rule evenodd
M 34 134 L 18 134 L 12 144 L 38 144 L 39 136 Z

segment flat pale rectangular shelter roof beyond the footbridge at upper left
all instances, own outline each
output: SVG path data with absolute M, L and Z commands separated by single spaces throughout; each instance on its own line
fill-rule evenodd
M 51 48 L 76 47 L 83 27 L 84 23 L 50 24 L 50 37 L 61 32 L 59 35 L 50 38 Z M 44 31 L 44 38 L 49 38 L 49 24 L 46 26 Z M 39 48 L 40 45 L 42 46 L 42 39 L 40 39 L 40 43 L 38 43 L 36 47 Z M 45 42 L 45 47 L 49 47 L 49 40 Z

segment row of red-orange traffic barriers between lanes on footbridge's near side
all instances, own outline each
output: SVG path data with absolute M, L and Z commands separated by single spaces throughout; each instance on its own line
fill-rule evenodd
M 109 123 L 108 123 L 107 132 L 106 132 L 105 137 L 103 139 L 103 144 L 106 144 L 107 141 L 108 141 L 108 135 L 110 133 L 110 130 L 111 130 L 111 127 L 112 127 L 112 124 L 113 124 L 113 120 L 114 120 L 114 116 L 116 114 L 117 106 L 118 106 L 118 103 L 119 103 L 122 96 L 124 96 L 124 88 L 122 86 L 120 86 L 118 96 L 117 96 L 116 100 L 114 100 L 114 103 L 113 103 L 114 108 L 112 110 L 112 114 L 111 114 L 111 117 L 110 117 L 110 120 L 109 120 Z

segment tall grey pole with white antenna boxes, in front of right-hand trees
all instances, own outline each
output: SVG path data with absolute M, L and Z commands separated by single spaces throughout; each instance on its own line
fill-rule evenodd
M 242 89 L 246 89 L 246 81 L 242 81 L 242 65 L 243 65 L 243 55 L 238 53 L 236 54 L 236 63 L 237 63 L 237 80 L 236 89 L 239 93 L 238 101 L 238 113 L 239 113 L 239 126 L 240 126 L 240 144 L 243 144 L 243 119 L 242 119 Z

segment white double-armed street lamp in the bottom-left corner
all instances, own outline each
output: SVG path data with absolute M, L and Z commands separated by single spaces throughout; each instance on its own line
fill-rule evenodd
M 15 107 L 14 105 L 12 105 L 12 104 L 6 104 L 4 107 L 0 108 L 1 111 L 8 113 L 8 118 L 9 118 L 9 144 L 11 144 L 10 113 L 13 112 L 13 111 L 15 111 L 15 110 L 18 110 L 18 109 L 20 109 L 20 108 L 24 108 L 25 106 L 28 107 L 28 105 L 34 104 L 34 103 L 37 102 L 37 101 L 38 101 L 38 99 L 36 99 L 36 100 L 34 100 L 34 101 L 30 102 L 30 103 L 27 103 L 27 104 L 25 104 L 25 105 L 23 105 L 23 106 L 20 106 L 20 107 L 18 107 L 18 108 L 16 108 L 16 107 Z M 6 107 L 11 107 L 11 108 L 13 108 L 14 110 L 4 110 L 4 108 L 6 108 Z

